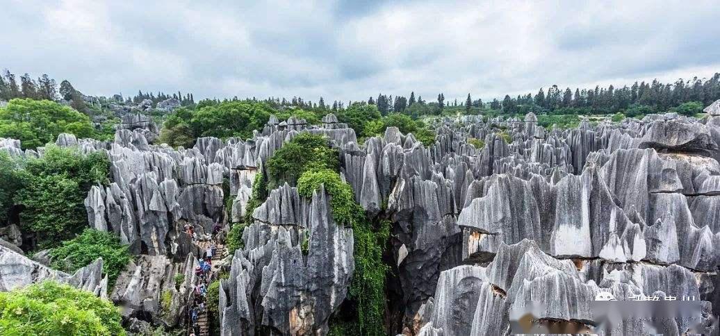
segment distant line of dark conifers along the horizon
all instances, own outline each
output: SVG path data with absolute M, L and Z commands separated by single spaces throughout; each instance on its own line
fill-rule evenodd
M 37 80 L 31 78 L 27 73 L 17 78 L 9 71 L 4 71 L 0 76 L 0 100 L 13 98 L 49 99 L 57 100 L 59 97 L 71 101 L 71 105 L 78 110 L 82 109 L 81 94 L 73 88 L 70 82 L 62 81 L 59 89 L 53 78 L 42 75 Z M 73 97 L 75 99 L 73 99 Z M 177 93 L 157 94 L 138 91 L 132 97 L 123 98 L 122 95 L 112 96 L 114 101 L 124 101 L 126 104 L 139 104 L 145 99 L 153 101 L 153 106 L 158 102 L 175 98 L 182 106 L 195 106 L 193 94 Z M 411 92 L 409 98 L 405 96 L 392 96 L 379 94 L 377 98 L 369 97 L 367 104 L 376 105 L 382 115 L 392 113 L 408 114 L 413 117 L 420 115 L 441 114 L 446 107 L 451 107 L 453 112 L 458 106 L 466 110 L 468 114 L 492 113 L 492 114 L 525 114 L 527 112 L 548 113 L 548 114 L 614 114 L 616 112 L 629 112 L 627 114 L 664 112 L 668 109 L 680 106 L 688 102 L 708 105 L 716 99 L 720 99 L 720 73 L 715 73 L 711 78 L 693 78 L 685 81 L 678 79 L 674 83 L 661 83 L 654 80 L 650 83 L 644 81 L 635 82 L 632 86 L 617 88 L 610 85 L 601 88 L 565 88 L 562 90 L 557 85 L 549 88 L 540 88 L 536 94 L 528 93 L 511 97 L 505 95 L 500 101 L 484 102 L 482 99 L 472 99 L 471 94 L 467 95 L 465 101 L 449 101 L 446 103 L 444 94 L 438 94 L 437 99 L 425 101 L 422 96 L 415 98 L 415 92 Z M 102 100 L 102 99 L 101 99 Z M 257 99 L 256 97 L 238 99 L 222 99 L 222 101 L 262 101 L 274 109 L 284 111 L 286 109 L 304 109 L 312 112 L 340 111 L 346 109 L 354 101 L 333 101 L 332 104 L 325 103 L 320 97 L 318 102 L 302 99 L 294 96 L 292 99 L 269 97 Z M 204 99 L 198 103 L 199 106 L 220 103 L 220 99 Z M 78 105 L 78 106 L 75 106 Z M 490 111 L 488 111 L 490 110 Z

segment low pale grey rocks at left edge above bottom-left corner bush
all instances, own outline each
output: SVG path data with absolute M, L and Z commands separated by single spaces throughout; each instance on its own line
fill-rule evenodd
M 53 270 L 19 251 L 0 244 L 0 291 L 12 291 L 31 283 L 55 280 L 107 299 L 107 276 L 102 277 L 102 259 L 80 268 L 74 274 Z

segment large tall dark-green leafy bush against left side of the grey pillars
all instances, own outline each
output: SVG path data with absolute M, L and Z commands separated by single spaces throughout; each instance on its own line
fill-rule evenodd
M 52 248 L 87 227 L 84 199 L 94 183 L 107 181 L 107 156 L 82 155 L 76 148 L 50 145 L 41 158 L 27 160 L 19 171 L 20 221 L 35 233 L 42 248 Z

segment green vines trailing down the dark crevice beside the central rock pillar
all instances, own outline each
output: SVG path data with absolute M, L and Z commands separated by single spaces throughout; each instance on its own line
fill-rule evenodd
M 384 335 L 384 289 L 388 267 L 382 261 L 382 252 L 390 236 L 390 224 L 384 221 L 374 224 L 367 219 L 362 206 L 355 202 L 352 187 L 335 171 L 323 169 L 303 173 L 297 182 L 297 191 L 300 196 L 310 198 L 320 185 L 330 194 L 335 222 L 353 227 L 355 273 L 348 299 L 356 306 L 357 323 L 348 325 L 358 328 L 354 335 Z

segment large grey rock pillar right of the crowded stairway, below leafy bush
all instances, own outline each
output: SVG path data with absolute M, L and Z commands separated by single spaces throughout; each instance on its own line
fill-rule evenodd
M 352 229 L 333 221 L 324 189 L 306 200 L 287 184 L 253 218 L 220 282 L 222 335 L 324 335 L 354 271 Z

